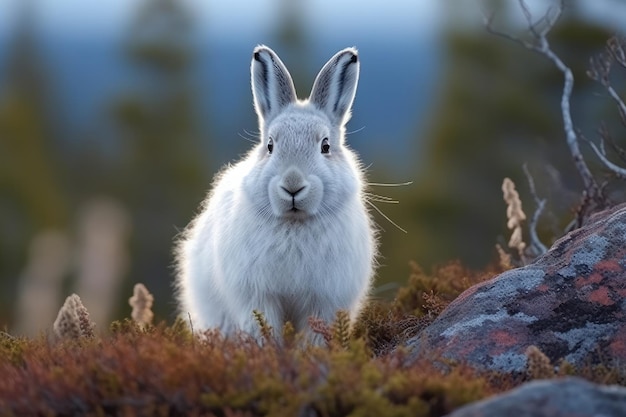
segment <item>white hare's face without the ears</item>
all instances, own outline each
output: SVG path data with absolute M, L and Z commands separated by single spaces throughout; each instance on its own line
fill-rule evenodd
M 304 219 L 337 210 L 357 192 L 341 132 L 320 112 L 294 104 L 268 126 L 262 173 L 272 213 Z

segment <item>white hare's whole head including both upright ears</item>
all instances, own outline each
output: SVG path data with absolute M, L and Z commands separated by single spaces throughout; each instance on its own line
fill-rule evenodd
M 266 46 L 254 49 L 251 85 L 262 142 L 245 178 L 258 212 L 307 219 L 333 214 L 359 192 L 359 168 L 343 145 L 359 79 L 356 49 L 336 53 L 298 101 L 293 80 Z

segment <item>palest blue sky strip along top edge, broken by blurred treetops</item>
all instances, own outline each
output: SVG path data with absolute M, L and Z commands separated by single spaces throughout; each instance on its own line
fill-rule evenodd
M 0 0 L 0 32 L 10 30 L 20 3 Z M 36 5 L 38 22 L 46 33 L 119 33 L 128 27 L 132 11 L 142 0 L 29 0 Z M 182 0 L 194 10 L 198 26 L 210 35 L 263 32 L 277 19 L 276 0 Z M 307 0 L 308 21 L 320 31 L 407 32 L 415 35 L 436 27 L 438 0 Z M 311 29 L 315 30 L 315 27 Z

